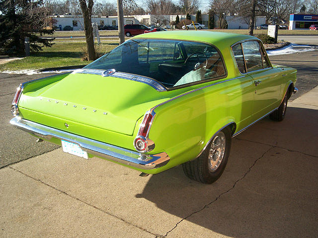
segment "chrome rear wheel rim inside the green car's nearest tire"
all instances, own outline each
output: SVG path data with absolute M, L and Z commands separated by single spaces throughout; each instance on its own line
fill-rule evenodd
M 209 170 L 215 172 L 224 157 L 226 147 L 226 136 L 223 131 L 219 131 L 212 139 L 209 150 Z

